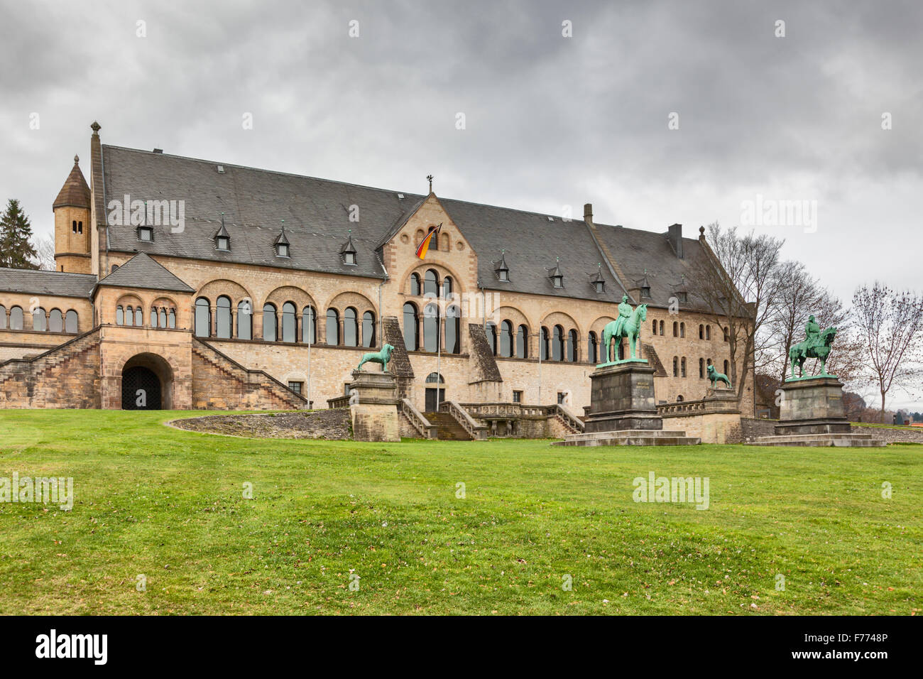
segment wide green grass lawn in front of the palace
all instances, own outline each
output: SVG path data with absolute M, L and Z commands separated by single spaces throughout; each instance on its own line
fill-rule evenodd
M 0 411 L 0 477 L 73 477 L 76 495 L 70 512 L 0 503 L 0 613 L 921 608 L 912 446 L 331 443 L 162 424 L 200 414 Z M 709 477 L 710 508 L 634 503 L 650 470 Z

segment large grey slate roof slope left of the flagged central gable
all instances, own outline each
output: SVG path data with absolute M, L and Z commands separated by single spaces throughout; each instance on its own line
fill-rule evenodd
M 233 261 L 305 271 L 384 278 L 375 256 L 379 241 L 410 216 L 419 195 L 382 188 L 269 172 L 252 167 L 103 145 L 106 200 L 184 200 L 185 228 L 154 227 L 154 240 L 138 241 L 136 227 L 111 224 L 109 249 L 151 255 Z M 351 205 L 359 221 L 349 221 Z M 228 252 L 215 249 L 221 224 L 231 236 Z M 273 243 L 282 232 L 289 258 L 276 257 Z M 358 250 L 355 265 L 342 263 L 340 249 L 350 236 Z

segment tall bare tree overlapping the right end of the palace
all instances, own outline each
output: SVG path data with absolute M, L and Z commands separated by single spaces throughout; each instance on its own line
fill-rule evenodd
M 726 329 L 731 355 L 729 377 L 743 397 L 754 358 L 765 356 L 763 325 L 776 314 L 773 300 L 782 279 L 779 250 L 785 242 L 772 236 L 737 234 L 710 224 L 705 256 L 693 264 L 697 297 L 713 319 Z M 737 374 L 737 363 L 741 373 Z

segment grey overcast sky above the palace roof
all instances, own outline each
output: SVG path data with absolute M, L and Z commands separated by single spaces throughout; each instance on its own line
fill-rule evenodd
M 416 193 L 432 173 L 439 196 L 687 236 L 806 200 L 816 223 L 758 230 L 838 296 L 923 287 L 916 0 L 0 9 L 0 200 L 39 234 L 75 153 L 89 179 L 95 119 L 103 143 Z

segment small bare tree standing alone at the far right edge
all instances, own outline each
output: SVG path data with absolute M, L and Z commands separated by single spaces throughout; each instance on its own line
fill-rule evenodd
M 910 386 L 923 376 L 923 296 L 895 291 L 878 281 L 853 295 L 857 331 L 863 341 L 862 364 L 869 382 L 884 399 L 893 386 Z

